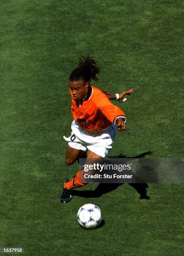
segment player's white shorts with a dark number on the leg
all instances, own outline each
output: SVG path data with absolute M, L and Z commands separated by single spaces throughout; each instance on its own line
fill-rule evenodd
M 115 125 L 111 124 L 102 131 L 88 132 L 84 131 L 75 121 L 72 122 L 71 128 L 71 136 L 69 138 L 63 136 L 68 141 L 70 147 L 83 151 L 89 149 L 103 158 L 112 149 L 112 142 L 115 139 L 117 131 Z

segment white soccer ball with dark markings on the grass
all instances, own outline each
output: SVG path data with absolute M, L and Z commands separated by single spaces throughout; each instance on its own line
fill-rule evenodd
M 101 210 L 93 204 L 83 205 L 77 212 L 77 220 L 83 228 L 96 228 L 102 221 Z

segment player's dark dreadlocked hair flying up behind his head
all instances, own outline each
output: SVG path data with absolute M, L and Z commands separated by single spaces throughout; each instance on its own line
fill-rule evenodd
M 86 82 L 90 82 L 91 79 L 97 81 L 97 74 L 100 72 L 100 67 L 97 62 L 87 55 L 87 57 L 82 57 L 77 61 L 78 67 L 72 71 L 69 76 L 70 81 L 79 81 L 83 79 Z

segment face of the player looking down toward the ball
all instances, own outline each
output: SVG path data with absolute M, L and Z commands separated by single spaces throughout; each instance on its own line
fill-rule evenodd
M 82 100 L 87 95 L 88 82 L 84 82 L 84 80 L 69 81 L 69 85 L 75 100 Z

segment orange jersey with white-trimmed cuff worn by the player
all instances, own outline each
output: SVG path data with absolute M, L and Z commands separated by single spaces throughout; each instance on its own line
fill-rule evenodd
M 125 117 L 125 113 L 113 105 L 100 89 L 91 87 L 92 94 L 82 105 L 78 100 L 74 100 L 70 90 L 72 116 L 85 131 L 102 131 L 113 123 L 116 117 Z

